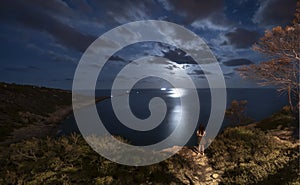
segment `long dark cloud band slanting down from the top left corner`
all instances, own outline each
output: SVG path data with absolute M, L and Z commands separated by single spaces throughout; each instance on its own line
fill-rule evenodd
M 49 3 L 46 3 L 44 6 L 46 5 L 49 5 Z M 55 9 L 54 5 L 50 7 Z M 64 10 L 59 7 L 57 6 L 57 11 Z M 46 9 L 37 8 L 22 1 L 9 2 L 0 8 L 0 10 L 4 10 L 0 14 L 1 19 L 13 19 L 26 27 L 47 32 L 56 42 L 80 52 L 83 52 L 96 39 L 95 36 L 83 34 L 75 28 L 62 23 L 57 18 L 48 14 Z M 12 15 L 10 10 L 14 10 L 16 14 Z

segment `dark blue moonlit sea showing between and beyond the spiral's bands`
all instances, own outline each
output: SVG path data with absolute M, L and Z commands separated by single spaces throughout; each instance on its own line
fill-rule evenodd
M 189 124 L 189 109 L 181 107 L 180 97 L 189 96 L 186 89 L 133 89 L 129 93 L 130 108 L 134 115 L 140 119 L 145 119 L 150 115 L 148 106 L 153 97 L 161 97 L 167 105 L 167 115 L 163 122 L 150 131 L 135 131 L 124 126 L 114 114 L 111 99 L 106 99 L 97 104 L 99 117 L 107 130 L 114 135 L 121 135 L 131 141 L 134 145 L 149 145 L 157 143 L 168 137 L 177 126 L 176 124 Z M 97 96 L 110 96 L 109 90 L 98 90 Z M 120 94 L 118 96 L 125 96 Z M 210 116 L 211 97 L 209 89 L 198 90 L 200 101 L 199 123 L 207 123 Z M 114 97 L 112 97 L 114 98 Z M 247 100 L 247 115 L 255 120 L 268 117 L 270 114 L 280 110 L 287 104 L 286 96 L 279 96 L 275 89 L 227 89 L 227 106 L 232 100 Z M 196 102 L 195 102 L 196 103 Z M 120 105 L 124 106 L 125 105 Z M 178 120 L 179 112 L 185 119 L 180 123 Z M 224 119 L 223 126 L 228 124 Z M 59 135 L 79 132 L 74 116 L 69 116 L 61 125 Z M 196 136 L 193 136 L 187 145 L 194 145 Z

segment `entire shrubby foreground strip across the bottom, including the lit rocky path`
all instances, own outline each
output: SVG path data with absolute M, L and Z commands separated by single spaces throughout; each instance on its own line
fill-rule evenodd
M 299 145 L 257 128 L 226 129 L 207 155 L 214 170 L 186 147 L 158 164 L 132 167 L 101 157 L 77 134 L 32 138 L 2 150 L 0 184 L 218 184 L 217 171 L 220 184 L 299 184 Z

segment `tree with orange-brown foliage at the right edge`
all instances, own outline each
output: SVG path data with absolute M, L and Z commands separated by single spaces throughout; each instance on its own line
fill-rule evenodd
M 287 93 L 292 111 L 299 110 L 299 62 L 300 62 L 300 0 L 297 2 L 292 24 L 267 30 L 254 50 L 265 54 L 268 61 L 238 69 L 243 78 L 254 79 L 259 85 L 277 87 Z

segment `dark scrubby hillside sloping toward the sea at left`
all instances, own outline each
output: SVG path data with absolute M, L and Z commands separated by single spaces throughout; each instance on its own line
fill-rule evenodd
M 51 119 L 51 114 L 71 105 L 71 92 L 0 83 L 0 102 L 0 141 L 3 141 L 14 129 L 57 121 Z

